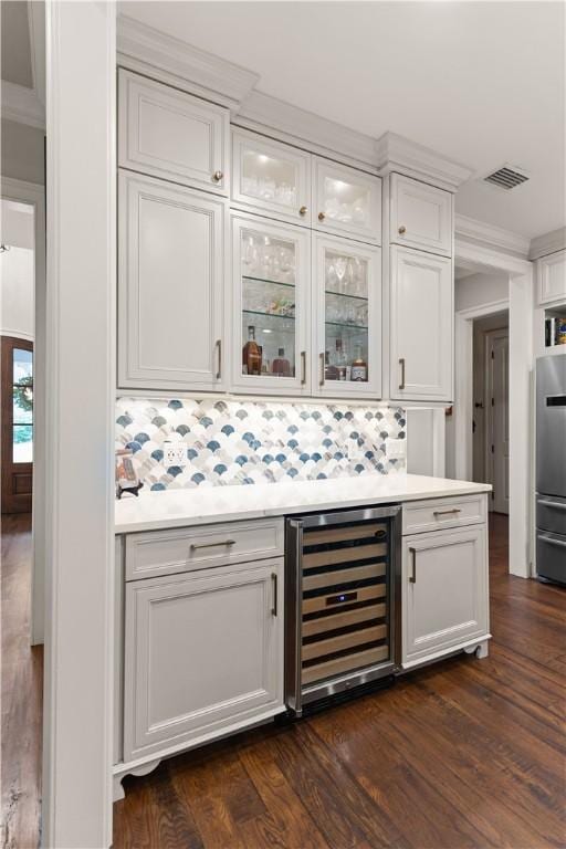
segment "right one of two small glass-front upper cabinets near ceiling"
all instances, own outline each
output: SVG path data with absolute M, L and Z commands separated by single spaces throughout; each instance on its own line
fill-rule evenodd
M 381 179 L 313 156 L 313 227 L 381 244 Z

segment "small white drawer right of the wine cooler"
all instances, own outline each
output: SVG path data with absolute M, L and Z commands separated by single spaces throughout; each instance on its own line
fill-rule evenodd
M 486 494 L 403 504 L 402 533 L 420 534 L 443 527 L 475 525 L 486 520 Z

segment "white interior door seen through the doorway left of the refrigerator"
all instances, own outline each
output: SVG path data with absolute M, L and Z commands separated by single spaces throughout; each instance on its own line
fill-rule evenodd
M 509 514 L 509 332 L 486 334 L 488 469 L 492 510 Z

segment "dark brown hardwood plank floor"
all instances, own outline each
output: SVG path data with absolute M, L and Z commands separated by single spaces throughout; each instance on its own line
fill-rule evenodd
M 21 564 L 29 539 L 10 533 L 8 560 Z M 506 534 L 506 518 L 493 516 L 488 659 L 460 656 L 290 727 L 264 726 L 126 778 L 115 849 L 565 847 L 566 594 L 510 577 Z M 17 567 L 4 560 L 3 572 L 3 588 L 20 598 L 9 579 Z M 11 646 L 22 643 L 18 617 L 21 602 L 3 627 Z M 36 664 L 19 651 L 19 699 L 33 703 Z M 24 719 L 10 719 L 15 701 L 2 713 L 14 727 Z M 14 734 L 22 740 L 21 725 Z M 3 752 L 30 803 L 11 819 L 4 846 L 13 848 L 36 845 L 29 750 Z

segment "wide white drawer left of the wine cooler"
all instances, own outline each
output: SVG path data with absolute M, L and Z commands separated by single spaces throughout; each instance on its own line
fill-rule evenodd
M 126 580 L 282 555 L 283 520 L 230 522 L 126 537 Z

